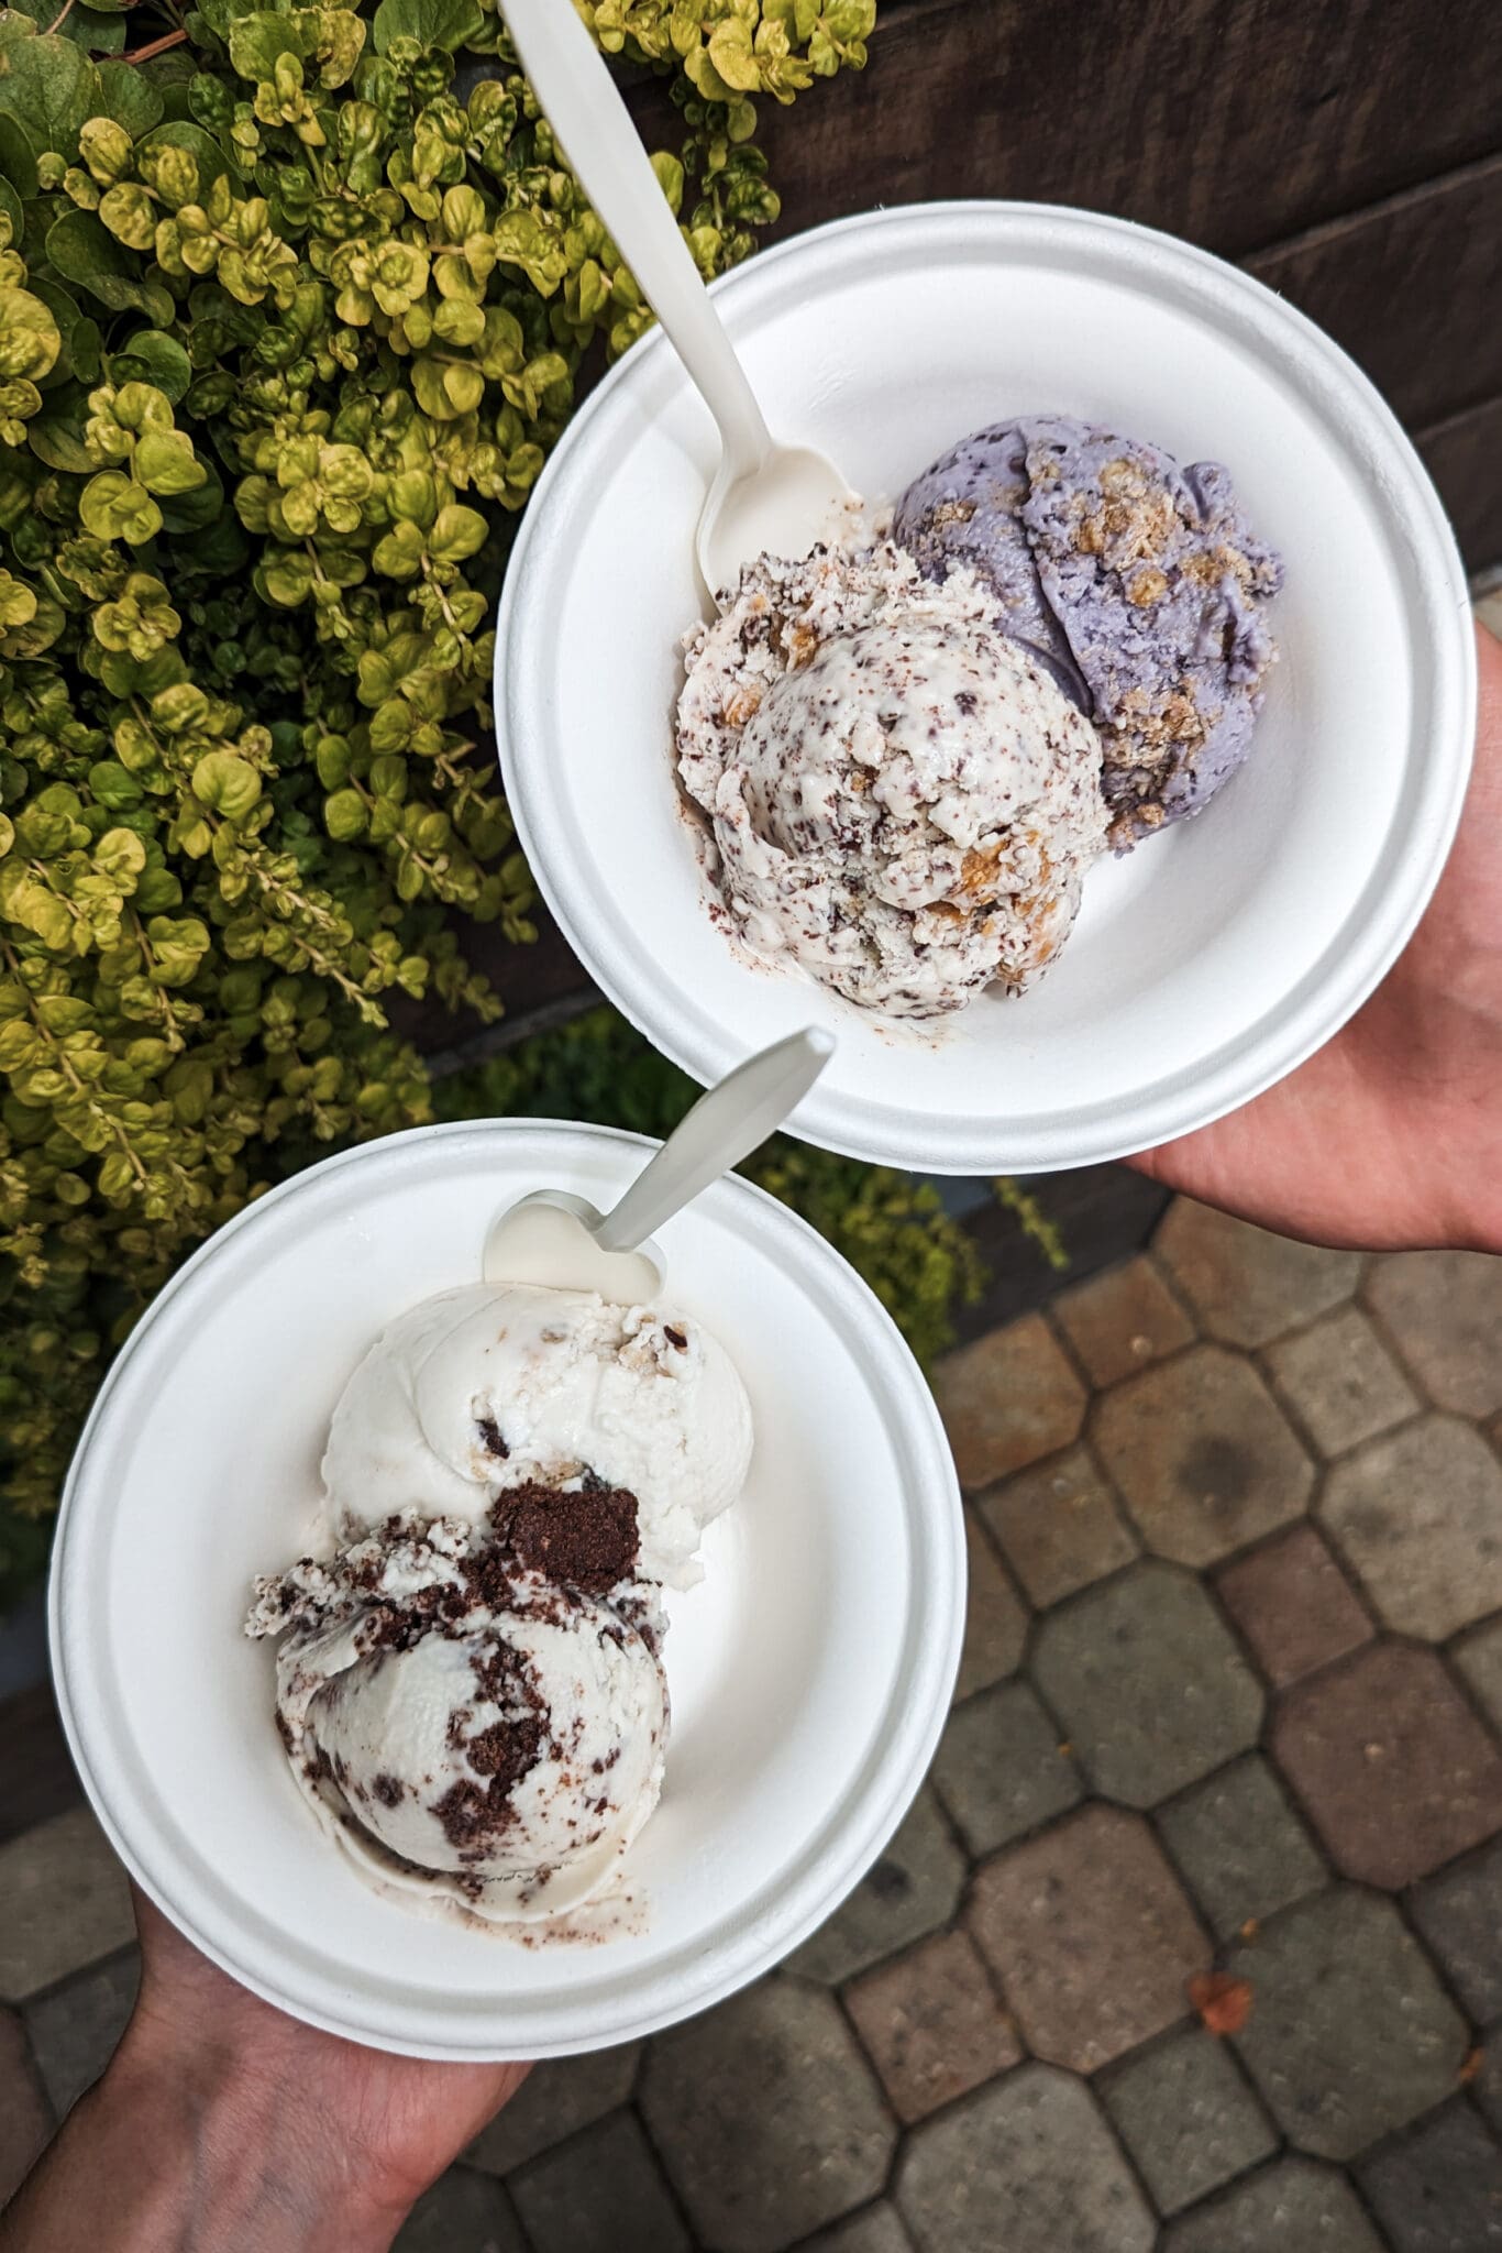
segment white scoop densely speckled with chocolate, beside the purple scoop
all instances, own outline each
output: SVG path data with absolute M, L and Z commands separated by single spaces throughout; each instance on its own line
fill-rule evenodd
M 1022 991 L 1106 840 L 1099 739 L 993 611 L 878 541 L 761 556 L 685 644 L 678 771 L 736 935 L 889 1016 Z

